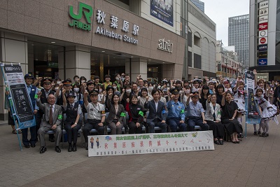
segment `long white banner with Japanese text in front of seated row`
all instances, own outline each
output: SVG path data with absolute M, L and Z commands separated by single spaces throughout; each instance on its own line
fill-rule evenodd
M 88 136 L 89 157 L 205 150 L 214 150 L 211 130 Z

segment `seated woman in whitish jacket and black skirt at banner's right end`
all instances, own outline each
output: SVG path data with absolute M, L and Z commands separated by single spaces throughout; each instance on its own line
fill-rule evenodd
M 213 130 L 214 143 L 223 145 L 224 126 L 221 123 L 221 106 L 216 103 L 216 95 L 209 95 L 206 102 L 205 120 L 209 130 Z

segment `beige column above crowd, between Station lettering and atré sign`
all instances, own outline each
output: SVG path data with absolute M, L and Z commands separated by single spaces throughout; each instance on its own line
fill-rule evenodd
M 147 79 L 147 60 L 143 58 L 132 58 L 131 59 L 131 80 L 136 81 L 137 76 L 141 74 L 141 78 Z M 126 65 L 127 63 L 125 63 Z M 126 72 L 126 69 L 125 69 Z

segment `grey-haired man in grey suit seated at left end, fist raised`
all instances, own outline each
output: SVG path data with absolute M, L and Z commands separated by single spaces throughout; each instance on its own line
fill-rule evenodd
M 55 95 L 48 95 L 48 103 L 41 103 L 42 92 L 38 92 L 38 98 L 36 99 L 36 104 L 44 115 L 41 121 L 40 128 L 38 129 L 38 137 L 41 142 L 40 153 L 45 153 L 47 148 L 45 146 L 45 132 L 53 130 L 55 132 L 55 151 L 60 153 L 59 141 L 62 137 L 62 128 L 60 123 L 62 123 L 62 107 L 55 104 Z

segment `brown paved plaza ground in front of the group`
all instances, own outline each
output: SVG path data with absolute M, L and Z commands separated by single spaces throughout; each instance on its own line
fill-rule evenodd
M 280 120 L 280 118 L 279 118 Z M 5 123 L 5 122 L 3 122 Z M 88 158 L 87 151 L 19 150 L 8 125 L 0 125 L 0 186 L 280 186 L 280 127 L 215 151 Z M 46 137 L 47 139 L 47 137 Z

